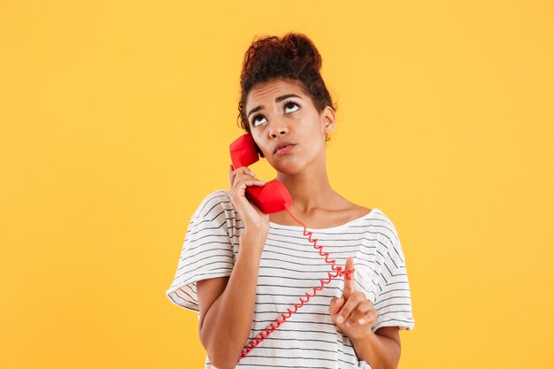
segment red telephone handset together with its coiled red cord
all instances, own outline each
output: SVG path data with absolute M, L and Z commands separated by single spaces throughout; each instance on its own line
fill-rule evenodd
M 233 167 L 235 169 L 242 166 L 248 166 L 256 163 L 259 160 L 258 151 L 256 150 L 256 143 L 254 138 L 250 134 L 245 134 L 237 138 L 229 146 L 231 150 L 231 161 L 233 162 Z M 292 204 L 292 197 L 289 194 L 289 190 L 283 185 L 280 181 L 273 180 L 265 183 L 264 186 L 247 186 L 246 187 L 246 196 L 250 201 L 256 206 L 259 210 L 264 211 L 265 214 L 272 214 L 273 212 L 278 211 L 287 211 L 295 219 L 298 224 L 304 227 L 304 236 L 307 236 L 308 241 L 313 243 L 313 247 L 319 251 L 319 255 L 325 258 L 325 262 L 331 265 L 331 269 L 335 273 L 327 272 L 327 280 L 319 280 L 319 286 L 312 286 L 312 292 L 306 292 L 304 297 L 299 297 L 299 304 L 294 303 L 294 309 L 288 308 L 288 314 L 281 313 L 282 319 L 275 319 L 274 323 L 271 323 L 266 327 L 262 332 L 257 334 L 253 340 L 247 342 L 244 348 L 241 351 L 241 355 L 238 357 L 236 362 L 240 362 L 251 350 L 254 350 L 258 344 L 267 338 L 270 334 L 273 334 L 275 329 L 281 326 L 287 319 L 290 318 L 298 309 L 302 308 L 304 304 L 310 301 L 310 298 L 315 296 L 318 291 L 323 289 L 327 283 L 333 278 L 339 278 L 346 274 L 346 278 L 350 280 L 350 274 L 354 273 L 354 270 L 342 270 L 341 266 L 336 266 L 336 260 L 329 259 L 329 253 L 323 251 L 323 246 L 318 245 L 318 239 L 312 239 L 312 232 L 309 232 L 299 219 L 290 212 L 289 205 Z

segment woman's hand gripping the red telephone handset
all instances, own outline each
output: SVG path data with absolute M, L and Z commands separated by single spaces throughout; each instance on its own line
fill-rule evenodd
M 254 172 L 246 166 L 233 170 L 229 165 L 229 187 L 231 202 L 241 216 L 244 223 L 244 232 L 249 235 L 258 235 L 265 241 L 269 232 L 269 215 L 260 211 L 256 204 L 250 203 L 246 197 L 247 186 L 264 186 L 265 182 L 254 178 Z

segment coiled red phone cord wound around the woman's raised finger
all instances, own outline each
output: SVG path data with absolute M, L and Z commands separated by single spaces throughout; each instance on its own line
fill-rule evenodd
M 277 323 L 276 325 L 274 323 L 271 323 L 269 325 L 269 327 L 266 327 L 265 330 L 260 332 L 257 336 L 255 336 L 253 340 L 250 340 L 250 342 L 248 342 L 244 346 L 244 348 L 242 349 L 241 356 L 236 361 L 237 363 L 240 362 L 243 357 L 248 355 L 248 353 L 251 350 L 254 350 L 260 342 L 264 341 L 265 338 L 267 338 L 270 334 L 272 334 L 275 331 L 275 329 L 277 329 L 278 327 L 281 326 L 281 324 L 283 324 L 285 321 L 287 321 L 287 319 L 289 319 L 292 314 L 294 314 L 296 311 L 298 311 L 298 309 L 303 307 L 304 304 L 306 304 L 308 301 L 310 301 L 310 298 L 312 298 L 313 296 L 316 296 L 317 291 L 320 291 L 321 289 L 323 289 L 324 285 L 329 283 L 332 278 L 342 277 L 343 275 L 346 275 L 346 278 L 348 278 L 350 280 L 350 278 L 351 278 L 350 274 L 354 273 L 354 269 L 342 270 L 342 266 L 335 266 L 336 260 L 329 260 L 329 253 L 322 251 L 323 246 L 318 245 L 318 239 L 317 238 L 312 240 L 312 234 L 313 233 L 309 232 L 307 230 L 306 226 L 304 225 L 304 223 L 302 223 L 300 220 L 296 219 L 296 217 L 294 215 L 292 215 L 292 213 L 289 211 L 289 204 L 285 204 L 285 210 L 289 213 L 289 215 L 292 217 L 292 219 L 295 219 L 298 224 L 300 224 L 300 225 L 302 225 L 302 227 L 304 227 L 304 236 L 306 236 L 306 235 L 308 236 L 308 241 L 313 243 L 313 247 L 316 250 L 319 250 L 319 255 L 321 255 L 322 257 L 325 257 L 325 262 L 327 264 L 331 265 L 331 269 L 333 269 L 335 271 L 335 273 L 327 272 L 327 276 L 328 276 L 327 281 L 325 279 L 320 279 L 319 280 L 319 286 L 312 286 L 313 294 L 310 294 L 310 292 L 305 293 L 305 296 L 306 296 L 305 300 L 302 297 L 299 297 L 298 299 L 300 300 L 300 304 L 296 304 L 296 303 L 293 304 L 294 307 L 295 307 L 294 311 L 291 311 L 290 308 L 287 308 L 287 311 L 289 311 L 288 316 L 286 316 L 284 313 L 281 313 L 282 320 L 280 320 L 279 318 L 275 319 L 275 322 Z M 265 335 L 264 335 L 264 333 L 265 333 Z M 259 338 L 258 338 L 258 336 L 259 336 Z

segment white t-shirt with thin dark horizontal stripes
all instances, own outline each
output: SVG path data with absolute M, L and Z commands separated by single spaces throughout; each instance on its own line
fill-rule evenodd
M 300 219 L 302 220 L 302 219 Z M 304 228 L 270 221 L 261 256 L 256 289 L 254 319 L 248 342 L 264 331 L 312 286 L 327 281 L 335 272 L 304 236 Z M 372 302 L 377 319 L 371 327 L 397 326 L 412 330 L 412 301 L 406 263 L 396 228 L 379 209 L 341 226 L 307 228 L 313 232 L 329 259 L 337 266 L 354 258 L 354 286 Z M 197 207 L 190 220 L 181 258 L 166 296 L 173 304 L 196 311 L 196 281 L 230 276 L 239 252 L 239 236 L 244 224 L 235 211 L 229 191 L 219 189 Z M 329 314 L 332 297 L 342 296 L 344 277 L 331 280 L 307 304 L 298 309 L 258 347 L 242 357 L 237 367 L 260 368 L 365 368 L 346 334 L 336 327 Z M 244 342 L 245 344 L 247 342 Z M 237 357 L 238 358 L 238 357 Z M 205 368 L 215 368 L 206 356 Z

